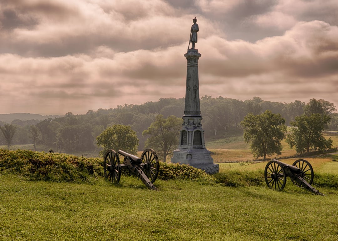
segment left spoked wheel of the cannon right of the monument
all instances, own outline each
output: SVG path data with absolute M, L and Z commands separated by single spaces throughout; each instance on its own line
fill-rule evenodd
M 286 176 L 284 168 L 274 160 L 266 164 L 264 177 L 269 188 L 282 190 L 285 187 Z

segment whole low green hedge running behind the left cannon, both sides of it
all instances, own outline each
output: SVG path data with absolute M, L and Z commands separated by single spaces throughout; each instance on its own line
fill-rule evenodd
M 102 158 L 83 158 L 62 153 L 46 153 L 30 150 L 8 151 L 0 149 L 0 171 L 19 173 L 31 180 L 54 182 L 88 181 L 92 170 L 94 176 L 104 176 Z M 124 175 L 132 175 L 122 170 Z M 204 171 L 189 165 L 160 162 L 159 179 L 189 179 L 214 183 L 216 179 Z

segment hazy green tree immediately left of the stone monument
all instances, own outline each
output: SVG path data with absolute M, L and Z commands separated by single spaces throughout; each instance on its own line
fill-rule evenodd
M 165 119 L 163 115 L 157 115 L 150 127 L 142 132 L 143 136 L 150 136 L 146 140 L 146 148 L 160 150 L 157 153 L 163 158 L 163 162 L 166 162 L 168 153 L 177 147 L 181 128 L 181 118 L 169 116 Z

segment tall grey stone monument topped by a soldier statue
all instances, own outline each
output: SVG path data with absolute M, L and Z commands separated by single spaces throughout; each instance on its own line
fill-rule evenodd
M 202 129 L 202 116 L 199 105 L 199 83 L 198 83 L 198 59 L 201 54 L 195 49 L 197 43 L 197 32 L 199 31 L 197 19 L 193 19 L 190 30 L 188 51 L 184 56 L 187 58 L 187 83 L 184 116 L 178 148 L 174 150 L 172 163 L 189 164 L 202 169 L 207 173 L 219 171 L 219 165 L 214 164 L 210 151 L 206 148 L 204 141 L 204 130 Z M 191 43 L 191 48 L 189 49 Z

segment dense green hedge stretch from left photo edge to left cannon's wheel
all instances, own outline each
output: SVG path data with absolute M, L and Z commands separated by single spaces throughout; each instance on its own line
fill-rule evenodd
M 90 174 L 103 176 L 102 160 L 62 153 L 0 149 L 0 171 L 19 173 L 31 180 L 87 181 Z

